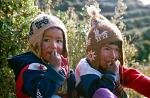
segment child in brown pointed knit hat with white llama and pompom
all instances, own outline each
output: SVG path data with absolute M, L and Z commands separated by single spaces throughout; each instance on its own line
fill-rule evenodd
M 75 70 L 79 95 L 84 98 L 127 98 L 124 86 L 150 97 L 150 78 L 123 66 L 123 38 L 117 26 L 96 9 L 88 12 L 92 21 L 87 57 L 81 59 Z

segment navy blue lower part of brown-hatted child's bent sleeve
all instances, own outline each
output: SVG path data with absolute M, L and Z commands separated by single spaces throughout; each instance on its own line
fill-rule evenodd
M 101 77 L 97 77 L 94 74 L 84 75 L 81 76 L 81 84 L 86 98 L 92 98 L 95 91 L 99 88 L 107 88 L 113 91 L 115 88 L 115 74 L 107 73 Z

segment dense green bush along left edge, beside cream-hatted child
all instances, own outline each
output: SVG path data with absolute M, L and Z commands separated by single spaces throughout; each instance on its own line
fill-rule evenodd
M 30 19 L 38 11 L 32 0 L 2 0 L 0 2 L 0 96 L 15 97 L 13 71 L 7 65 L 11 55 L 27 50 Z

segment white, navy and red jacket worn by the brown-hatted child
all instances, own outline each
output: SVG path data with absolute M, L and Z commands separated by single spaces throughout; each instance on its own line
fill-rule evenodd
M 86 58 L 81 59 L 75 70 L 76 88 L 79 96 L 92 98 L 99 88 L 108 88 L 112 93 L 115 93 L 117 75 L 95 70 L 88 64 Z M 119 81 L 121 86 L 132 88 L 150 98 L 150 78 L 141 74 L 138 70 L 120 66 Z

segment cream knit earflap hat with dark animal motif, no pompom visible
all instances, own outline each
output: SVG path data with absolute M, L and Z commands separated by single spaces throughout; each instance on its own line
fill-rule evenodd
M 37 17 L 33 20 L 29 32 L 29 46 L 33 53 L 35 53 L 39 58 L 41 57 L 41 43 L 44 31 L 52 27 L 59 28 L 63 31 L 64 46 L 62 55 L 67 57 L 67 30 L 64 23 L 56 16 L 50 16 L 42 13 L 37 15 Z

